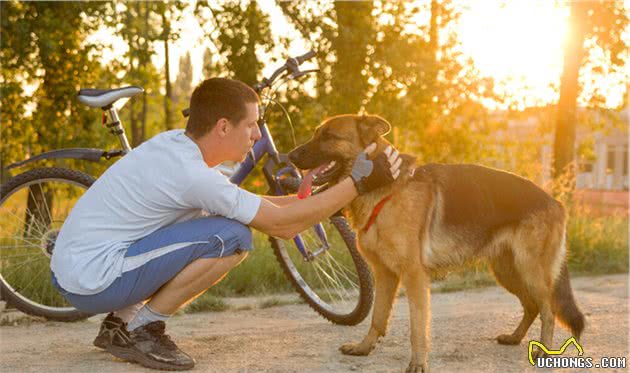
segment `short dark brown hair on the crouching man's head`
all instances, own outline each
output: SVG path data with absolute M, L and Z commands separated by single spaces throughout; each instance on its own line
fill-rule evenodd
M 210 132 L 221 118 L 236 124 L 247 114 L 245 104 L 258 102 L 256 92 L 243 82 L 226 78 L 206 79 L 190 97 L 186 132 L 199 138 Z

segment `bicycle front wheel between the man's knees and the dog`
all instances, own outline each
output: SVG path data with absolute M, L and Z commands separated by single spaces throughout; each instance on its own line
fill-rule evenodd
M 317 313 L 340 325 L 356 325 L 372 308 L 372 276 L 356 248 L 355 234 L 342 216 L 299 234 L 309 254 L 300 253 L 294 240 L 270 237 L 276 258 L 302 298 Z

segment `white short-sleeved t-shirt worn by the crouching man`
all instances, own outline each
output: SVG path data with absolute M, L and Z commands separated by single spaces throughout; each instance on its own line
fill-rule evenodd
M 77 201 L 51 269 L 65 290 L 97 294 L 121 276 L 133 242 L 204 211 L 249 224 L 260 201 L 208 167 L 183 130 L 164 132 L 114 163 Z

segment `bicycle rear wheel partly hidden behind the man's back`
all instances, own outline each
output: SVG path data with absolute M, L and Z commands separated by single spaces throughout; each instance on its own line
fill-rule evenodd
M 91 316 L 70 305 L 52 285 L 55 240 L 94 178 L 65 168 L 38 168 L 0 188 L 0 290 L 20 311 L 50 320 Z

